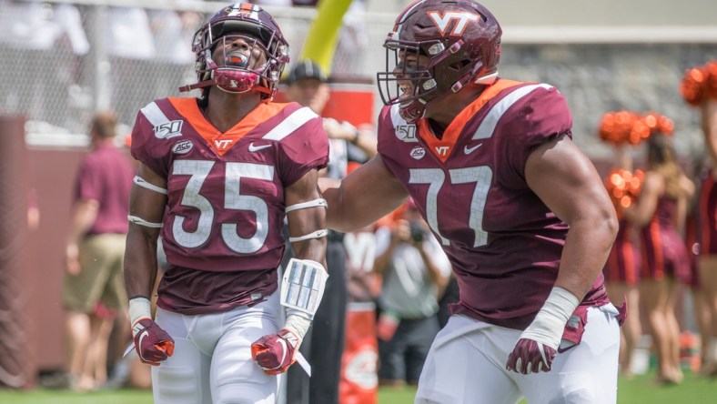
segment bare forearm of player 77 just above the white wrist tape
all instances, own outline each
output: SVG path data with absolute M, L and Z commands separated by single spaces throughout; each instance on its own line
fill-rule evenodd
M 617 221 L 609 219 L 571 223 L 555 286 L 582 300 L 600 275 L 616 234 Z

